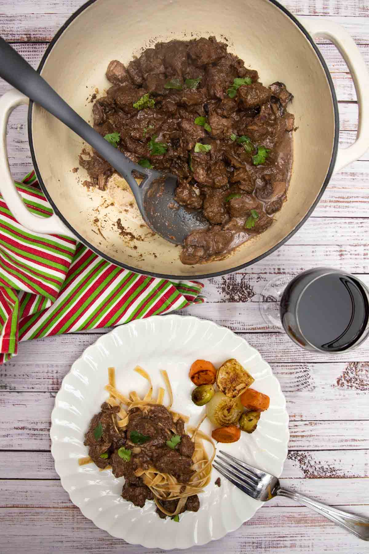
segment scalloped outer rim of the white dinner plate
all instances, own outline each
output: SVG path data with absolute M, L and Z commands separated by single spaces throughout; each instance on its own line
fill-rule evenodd
M 290 433 L 289 433 L 289 414 L 288 414 L 288 411 L 287 411 L 287 407 L 286 407 L 286 399 L 285 399 L 285 396 L 284 396 L 284 393 L 282 391 L 282 387 L 280 386 L 280 383 L 279 383 L 279 379 L 274 375 L 273 373 L 273 370 L 272 370 L 272 367 L 271 365 L 269 364 L 269 362 L 267 362 L 266 360 L 264 360 L 264 358 L 262 357 L 261 353 L 255 348 L 253 347 L 247 340 L 246 338 L 242 337 L 242 336 L 239 336 L 237 333 L 235 333 L 234 331 L 232 331 L 231 329 L 229 329 L 228 327 L 225 327 L 224 325 L 219 325 L 217 324 L 215 321 L 212 321 L 212 320 L 208 320 L 208 319 L 200 319 L 200 317 L 195 317 L 195 316 L 191 316 L 191 315 L 179 315 L 179 314 L 168 314 L 168 315 L 165 315 L 164 316 L 165 319 L 168 319 L 168 320 L 178 320 L 178 319 L 186 319 L 186 320 L 189 320 L 190 322 L 191 321 L 196 321 L 196 322 L 199 322 L 200 325 L 202 324 L 208 324 L 210 326 L 215 326 L 217 327 L 218 329 L 221 329 L 221 330 L 225 330 L 228 332 L 228 334 L 232 334 L 232 335 L 235 335 L 237 338 L 240 339 L 240 341 L 243 341 L 246 343 L 246 345 L 248 347 L 250 347 L 254 353 L 256 353 L 256 355 L 264 362 L 268 365 L 269 367 L 269 370 L 271 371 L 271 375 L 270 377 L 272 377 L 274 379 L 274 381 L 277 383 L 277 389 L 278 389 L 278 392 L 282 395 L 283 399 L 284 399 L 284 413 L 285 415 L 287 416 L 287 420 L 286 420 L 286 423 L 285 423 L 285 442 L 282 443 L 283 447 L 284 447 L 284 458 L 282 460 L 282 465 L 281 465 L 281 470 L 280 470 L 280 474 L 282 474 L 282 471 L 283 471 L 283 468 L 284 468 L 284 463 L 285 463 L 285 460 L 287 459 L 287 455 L 288 455 L 288 443 L 289 443 L 289 438 L 290 438 Z M 124 325 L 119 325 L 117 327 L 115 327 L 114 329 L 112 329 L 111 331 L 108 331 L 107 333 L 104 333 L 102 334 L 100 337 L 98 337 L 96 339 L 95 342 L 93 342 L 91 345 L 87 346 L 85 348 L 85 350 L 81 353 L 81 355 L 76 358 L 76 360 L 72 363 L 69 371 L 66 373 L 66 375 L 63 377 L 62 381 L 61 381 L 61 384 L 60 384 L 60 388 L 58 390 L 58 392 L 56 393 L 55 395 L 55 399 L 54 399 L 54 407 L 53 407 L 53 410 L 51 411 L 51 425 L 50 425 L 50 440 L 51 440 L 51 455 L 53 456 L 53 460 L 54 460 L 54 467 L 55 467 L 55 471 L 56 473 L 59 475 L 59 478 L 60 478 L 60 484 L 61 486 L 63 487 L 63 489 L 66 491 L 66 493 L 68 494 L 69 496 L 69 499 L 70 501 L 72 502 L 72 504 L 74 504 L 80 511 L 81 511 L 81 514 L 86 517 L 86 519 L 92 521 L 93 525 L 95 525 L 97 527 L 97 529 L 101 529 L 105 532 L 107 532 L 110 536 L 114 537 L 114 538 L 117 538 L 118 540 L 124 540 L 126 541 L 128 544 L 131 544 L 131 545 L 136 545 L 136 546 L 143 546 L 145 548 L 160 548 L 162 550 L 172 550 L 173 548 L 178 548 L 178 550 L 184 550 L 185 548 L 193 548 L 193 547 L 197 547 L 197 546 L 203 546 L 211 541 L 216 541 L 216 540 L 220 540 L 221 538 L 224 538 L 226 537 L 227 535 L 229 535 L 230 533 L 236 531 L 237 529 L 239 529 L 241 527 L 241 525 L 245 524 L 247 521 L 250 521 L 254 515 L 256 514 L 256 512 L 263 506 L 264 502 L 260 502 L 260 504 L 258 506 L 256 506 L 256 510 L 254 512 L 254 514 L 250 517 L 248 517 L 248 519 L 244 520 L 240 525 L 236 524 L 236 526 L 232 527 L 232 529 L 228 530 L 225 535 L 222 535 L 220 537 L 211 537 L 209 541 L 205 541 L 205 542 L 198 542 L 198 543 L 195 543 L 195 544 L 191 544 L 191 545 L 188 545 L 188 544 L 184 544 L 183 546 L 182 545 L 175 545 L 175 546 L 171 546 L 171 547 L 165 547 L 163 545 L 156 545 L 156 544 L 153 544 L 153 543 L 147 543 L 147 544 L 142 544 L 140 542 L 129 542 L 126 538 L 122 538 L 116 534 L 114 534 L 112 531 L 110 530 L 107 530 L 105 529 L 104 527 L 102 527 L 101 525 L 97 525 L 95 523 L 95 521 L 93 521 L 93 519 L 91 519 L 91 517 L 87 516 L 85 514 L 85 511 L 84 511 L 84 508 L 83 506 L 79 506 L 77 505 L 70 497 L 70 491 L 69 491 L 69 488 L 65 485 L 65 481 L 64 481 L 64 477 L 61 476 L 59 474 L 59 471 L 56 467 L 56 464 L 57 464 L 57 460 L 55 459 L 55 455 L 54 455 L 54 444 L 55 444 L 55 441 L 53 439 L 53 427 L 54 427 L 54 424 L 55 424 L 55 413 L 56 411 L 58 410 L 58 406 L 57 406 L 57 401 L 58 401 L 58 396 L 59 394 L 61 394 L 61 392 L 63 392 L 63 389 L 64 389 L 64 384 L 65 382 L 67 381 L 67 378 L 72 374 L 72 370 L 74 368 L 74 366 L 84 358 L 84 356 L 86 355 L 86 353 L 88 353 L 89 350 L 92 350 L 92 348 L 95 348 L 99 342 L 103 341 L 104 338 L 107 336 L 107 335 L 111 335 L 111 334 L 117 334 L 119 332 L 125 332 L 125 329 L 126 327 L 128 326 L 137 326 L 137 325 L 141 325 L 142 323 L 145 323 L 147 320 L 158 320 L 160 318 L 160 320 L 163 319 L 163 315 L 154 315 L 154 316 L 150 316 L 149 318 L 143 318 L 143 319 L 138 319 L 138 320 L 133 320 L 133 321 L 129 321 L 127 324 L 124 324 Z M 279 475 L 276 475 L 278 478 L 279 478 Z M 64 481 L 64 482 L 63 482 Z

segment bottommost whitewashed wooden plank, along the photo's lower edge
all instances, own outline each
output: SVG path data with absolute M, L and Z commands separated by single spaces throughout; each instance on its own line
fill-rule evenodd
M 342 509 L 369 515 L 369 507 L 342 506 Z M 27 522 L 27 527 L 25 527 Z M 324 545 L 322 537 L 324 536 Z M 0 511 L 2 554 L 24 550 L 39 554 L 73 554 L 80 551 L 96 554 L 142 554 L 141 546 L 128 545 L 97 529 L 80 510 L 12 508 Z M 258 510 L 252 520 L 219 541 L 196 547 L 199 554 L 363 554 L 363 543 L 325 517 L 305 507 L 268 507 Z M 154 551 L 152 551 L 154 552 Z M 159 552 L 156 551 L 155 552 Z M 180 554 L 181 550 L 171 550 Z

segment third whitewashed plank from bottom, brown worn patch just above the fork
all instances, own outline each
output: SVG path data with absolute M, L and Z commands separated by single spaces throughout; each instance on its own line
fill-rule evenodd
M 369 450 L 290 450 L 282 477 L 299 481 L 368 478 Z M 0 479 L 19 478 L 59 479 L 51 452 L 0 450 Z

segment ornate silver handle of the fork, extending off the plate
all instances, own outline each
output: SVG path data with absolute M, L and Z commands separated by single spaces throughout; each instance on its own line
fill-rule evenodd
M 297 500 L 300 504 L 308 506 L 308 508 L 319 512 L 319 514 L 327 517 L 337 525 L 344 527 L 344 529 L 352 533 L 352 535 L 362 538 L 364 541 L 369 541 L 369 519 L 367 519 L 367 517 L 348 514 L 347 512 L 337 510 L 336 508 L 332 508 L 316 500 L 311 500 L 308 496 L 294 493 L 290 490 L 278 489 L 277 496 L 286 496 L 292 500 Z

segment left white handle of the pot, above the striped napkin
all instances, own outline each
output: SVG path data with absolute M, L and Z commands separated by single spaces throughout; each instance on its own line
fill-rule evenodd
M 39 217 L 31 213 L 15 187 L 8 162 L 7 125 L 9 116 L 14 108 L 22 104 L 28 104 L 28 101 L 27 96 L 24 96 L 15 89 L 9 90 L 8 93 L 0 98 L 0 192 L 15 219 L 26 229 L 36 233 L 66 235 L 76 240 L 74 234 L 71 233 L 55 213 L 48 218 Z

